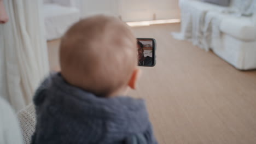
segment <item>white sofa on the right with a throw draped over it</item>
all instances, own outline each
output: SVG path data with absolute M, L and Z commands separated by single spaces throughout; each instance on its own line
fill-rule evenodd
M 207 48 L 205 45 L 208 42 L 208 46 L 216 55 L 237 69 L 256 69 L 256 13 L 253 16 L 240 16 L 236 2 L 232 0 L 229 7 L 221 7 L 200 0 L 180 0 L 182 37 L 192 40 L 200 47 Z M 256 12 L 256 5 L 254 9 Z M 230 13 L 231 11 L 236 12 Z M 209 23 L 211 25 L 208 25 Z M 211 31 L 208 31 L 207 27 L 210 27 Z M 219 31 L 215 36 L 209 34 L 214 28 Z M 202 33 L 201 36 L 198 36 L 198 33 Z M 211 36 L 206 37 L 207 35 Z

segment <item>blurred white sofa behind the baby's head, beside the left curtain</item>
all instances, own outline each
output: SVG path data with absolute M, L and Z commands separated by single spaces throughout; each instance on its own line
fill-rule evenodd
M 79 21 L 77 0 L 44 0 L 43 15 L 47 40 L 60 38 L 74 22 Z

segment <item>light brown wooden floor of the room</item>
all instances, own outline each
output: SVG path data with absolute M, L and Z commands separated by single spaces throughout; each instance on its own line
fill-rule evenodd
M 157 62 L 143 68 L 137 91 L 147 101 L 159 143 L 256 143 L 256 71 L 239 71 L 212 52 L 174 40 L 179 24 L 132 28 L 155 38 Z M 59 40 L 51 41 L 51 68 Z

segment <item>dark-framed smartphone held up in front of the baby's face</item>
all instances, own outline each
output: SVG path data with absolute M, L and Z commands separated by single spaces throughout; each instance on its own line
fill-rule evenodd
M 154 67 L 156 63 L 156 41 L 153 38 L 137 38 L 138 66 Z

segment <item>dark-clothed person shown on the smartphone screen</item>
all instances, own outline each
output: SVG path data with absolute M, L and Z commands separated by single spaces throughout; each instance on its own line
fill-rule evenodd
M 138 65 L 152 65 L 152 57 L 144 56 L 144 46 L 137 40 L 138 45 Z

